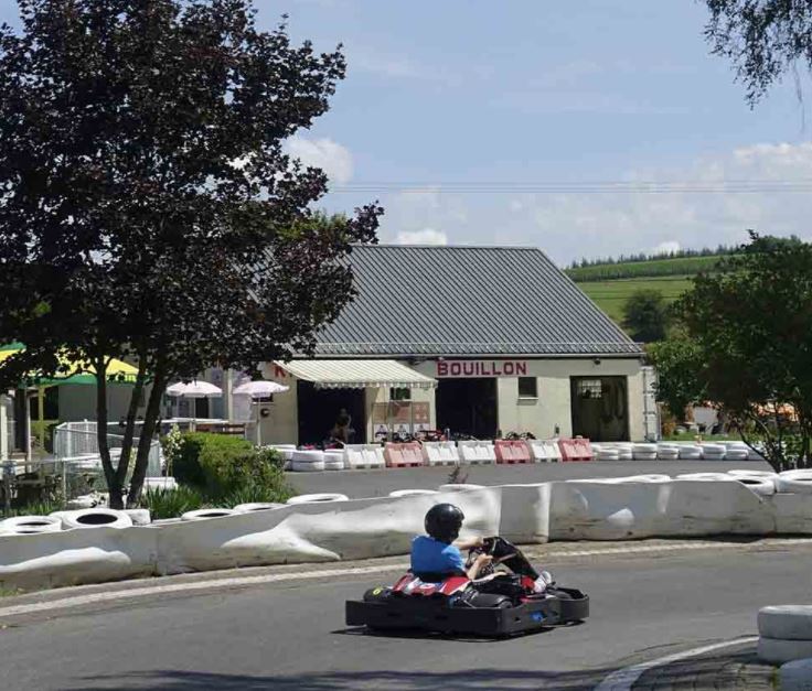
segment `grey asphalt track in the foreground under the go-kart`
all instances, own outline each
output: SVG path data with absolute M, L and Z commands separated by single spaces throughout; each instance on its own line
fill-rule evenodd
M 809 601 L 808 544 L 662 552 L 628 546 L 638 551 L 545 559 L 551 548 L 534 548 L 559 582 L 590 594 L 592 615 L 579 626 L 510 640 L 348 630 L 343 601 L 389 582 L 393 560 L 381 562 L 374 577 L 284 581 L 0 618 L 2 688 L 590 689 L 619 668 L 752 635 L 760 606 Z M 0 607 L 9 602 L 0 600 Z

